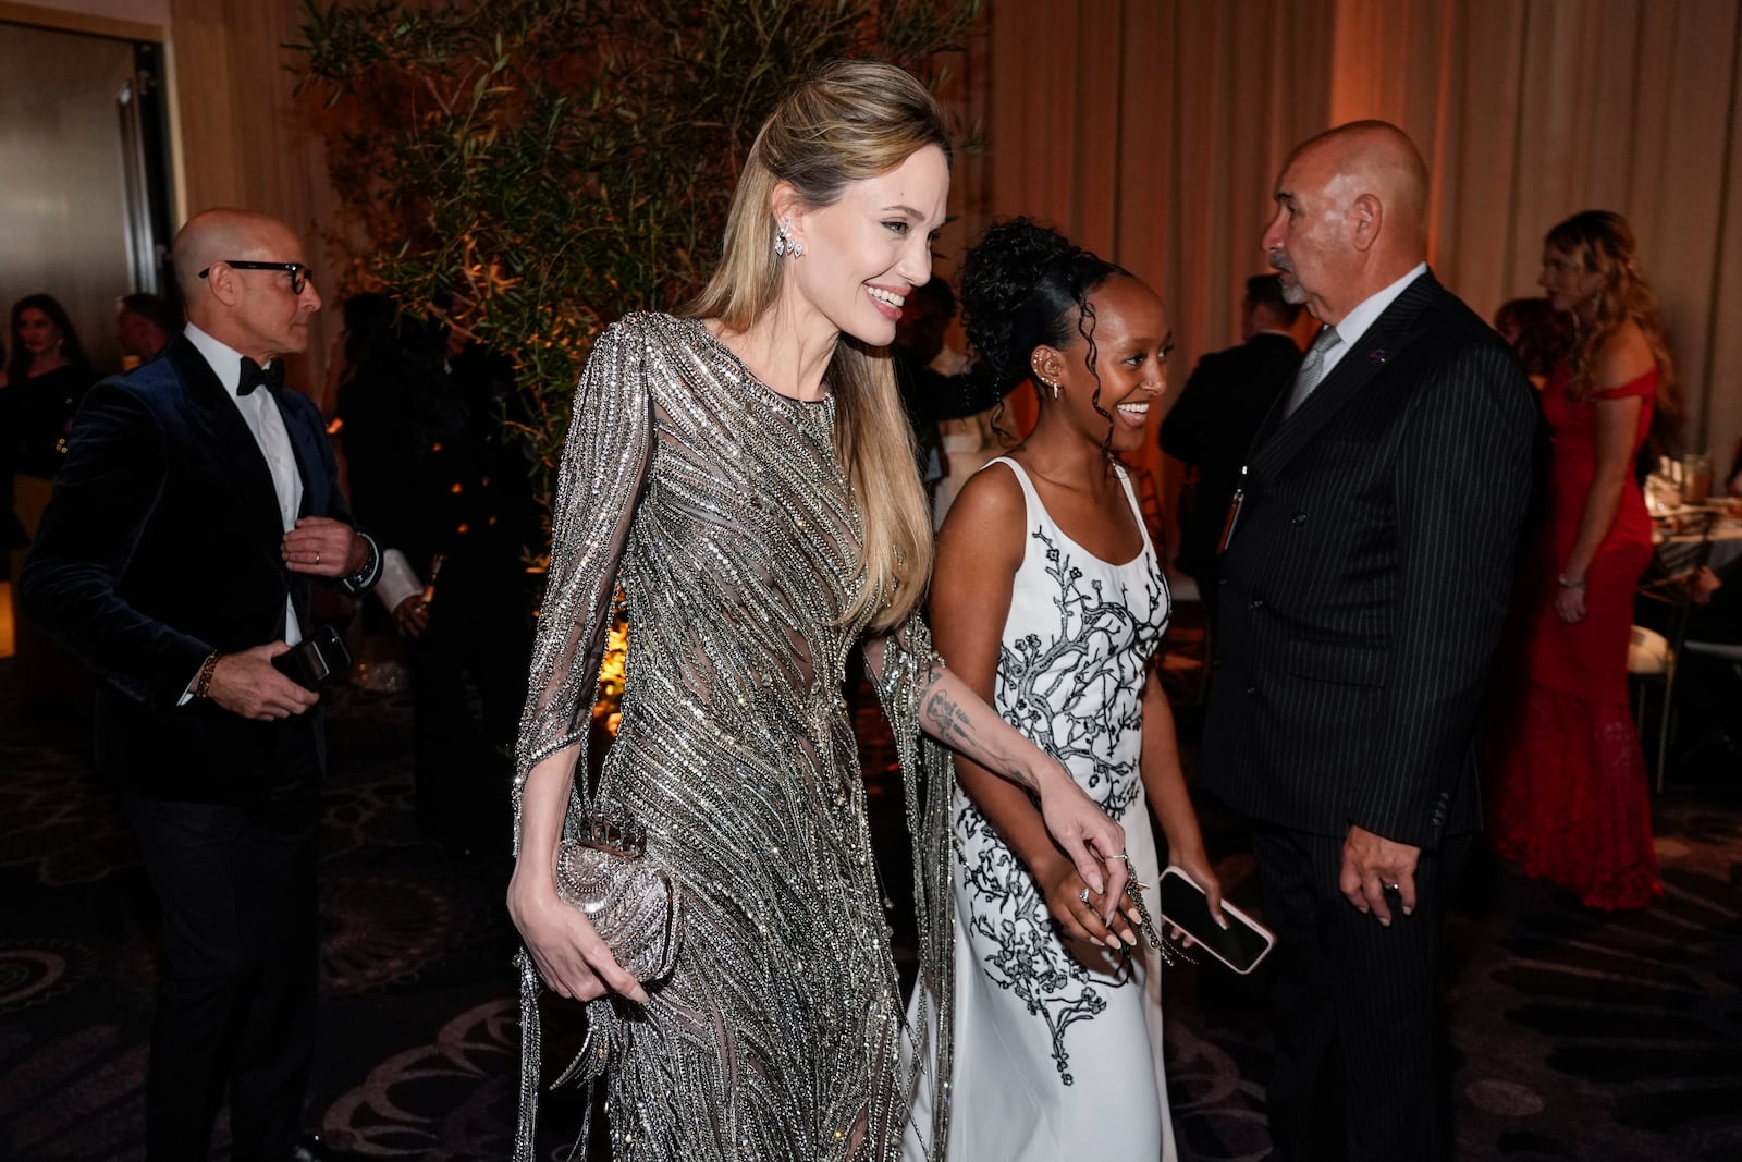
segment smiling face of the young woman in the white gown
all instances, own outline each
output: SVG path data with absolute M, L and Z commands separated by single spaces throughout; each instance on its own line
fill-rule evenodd
M 1059 385 L 1057 401 L 1050 392 L 1042 399 L 1049 409 L 1059 408 L 1061 418 L 1096 446 L 1108 439 L 1101 411 L 1111 413 L 1108 446 L 1134 451 L 1150 439 L 1150 406 L 1167 392 L 1167 354 L 1174 348 L 1167 312 L 1146 282 L 1124 274 L 1103 282 L 1089 296 L 1089 307 L 1094 310 L 1096 371 L 1084 362 L 1089 341 L 1080 334 L 1063 352 L 1036 347 L 1035 369 Z M 1096 411 L 1097 376 L 1101 411 Z

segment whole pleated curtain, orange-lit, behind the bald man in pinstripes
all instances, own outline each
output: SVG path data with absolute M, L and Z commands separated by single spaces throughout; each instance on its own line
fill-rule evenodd
M 1742 336 L 1721 326 L 1742 317 L 1739 78 L 1733 0 L 989 0 L 963 82 L 986 148 L 962 167 L 946 246 L 1026 213 L 1118 260 L 1167 301 L 1178 388 L 1239 341 L 1289 146 L 1381 117 L 1427 155 L 1432 261 L 1482 315 L 1536 293 L 1550 225 L 1627 214 L 1686 443 L 1726 460 L 1742 436 Z

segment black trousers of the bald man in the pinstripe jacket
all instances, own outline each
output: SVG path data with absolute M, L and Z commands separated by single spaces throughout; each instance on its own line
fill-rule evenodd
M 1421 854 L 1415 915 L 1394 902 L 1387 929 L 1338 890 L 1341 836 L 1254 824 L 1265 923 L 1277 934 L 1268 1108 L 1279 1159 L 1451 1159 L 1441 922 L 1470 838 Z

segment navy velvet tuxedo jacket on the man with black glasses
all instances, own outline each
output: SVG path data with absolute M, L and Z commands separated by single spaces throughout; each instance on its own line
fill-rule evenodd
M 298 516 L 348 523 L 319 409 L 287 388 L 277 402 L 301 472 Z M 308 747 L 319 765 L 319 707 L 258 723 L 214 702 L 178 706 L 213 650 L 284 636 L 286 596 L 303 632 L 314 629 L 310 578 L 284 568 L 282 537 L 260 444 L 186 338 L 91 388 L 19 598 L 35 625 L 96 671 L 98 765 L 124 787 L 246 801 L 277 772 L 308 770 Z

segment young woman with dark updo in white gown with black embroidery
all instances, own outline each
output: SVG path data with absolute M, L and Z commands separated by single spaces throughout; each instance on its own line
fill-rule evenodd
M 1035 432 L 988 463 L 937 542 L 946 664 L 1125 829 L 1136 876 L 1171 861 L 1219 909 L 1151 671 L 1169 596 L 1113 453 L 1148 436 L 1172 347 L 1139 279 L 1026 220 L 969 253 L 962 300 L 982 369 L 1040 394 Z M 1099 899 L 1017 787 L 958 760 L 953 1162 L 1174 1159 L 1158 955 Z M 1151 913 L 1158 911 L 1151 895 Z M 935 1094 L 922 1089 L 928 1108 Z M 922 1118 L 923 1120 L 923 1118 Z

